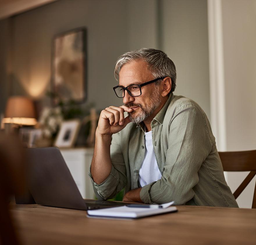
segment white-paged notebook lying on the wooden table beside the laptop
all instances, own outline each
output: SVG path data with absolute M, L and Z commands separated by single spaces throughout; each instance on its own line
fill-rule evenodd
M 171 203 L 164 203 L 160 205 L 147 205 L 145 207 L 136 207 L 136 205 L 127 205 L 113 208 L 103 208 L 97 210 L 87 210 L 87 217 L 102 218 L 102 219 L 136 219 L 151 215 L 158 215 L 168 212 L 176 212 L 176 207 L 170 207 Z M 135 207 L 134 207 L 135 206 Z

